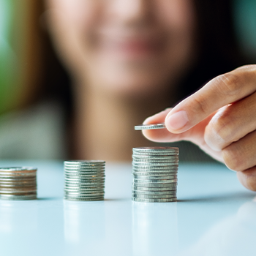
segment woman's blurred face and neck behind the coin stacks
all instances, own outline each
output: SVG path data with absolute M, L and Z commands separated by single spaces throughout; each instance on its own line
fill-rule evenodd
M 176 102 L 178 81 L 195 64 L 192 1 L 48 0 L 46 7 L 72 75 L 73 157 L 130 161 L 132 147 L 152 146 L 131 127 Z

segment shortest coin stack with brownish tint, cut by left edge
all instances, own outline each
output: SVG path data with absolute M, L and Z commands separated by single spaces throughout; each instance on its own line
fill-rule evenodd
M 0 167 L 0 199 L 37 199 L 37 168 Z

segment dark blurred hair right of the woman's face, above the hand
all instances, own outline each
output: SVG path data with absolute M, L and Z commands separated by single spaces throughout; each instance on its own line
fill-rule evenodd
M 184 78 L 181 91 L 187 97 L 208 80 L 246 64 L 238 48 L 233 1 L 194 0 L 197 12 L 198 61 Z

